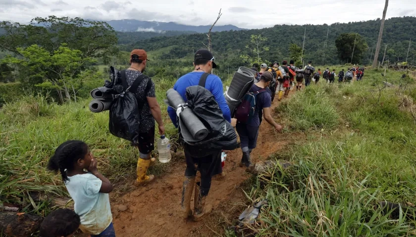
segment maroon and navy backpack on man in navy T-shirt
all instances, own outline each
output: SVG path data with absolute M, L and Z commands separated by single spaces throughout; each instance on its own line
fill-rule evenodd
M 249 123 L 254 118 L 257 96 L 265 91 L 266 89 L 263 88 L 256 92 L 248 92 L 245 94 L 235 111 L 234 118 L 237 118 L 238 122 Z

